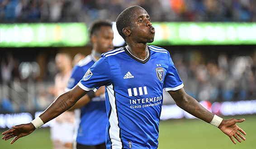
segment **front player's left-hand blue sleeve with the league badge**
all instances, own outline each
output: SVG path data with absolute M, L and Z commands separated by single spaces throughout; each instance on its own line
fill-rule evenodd
M 109 62 L 106 57 L 101 57 L 92 65 L 78 83 L 85 91 L 94 90 L 100 86 L 111 84 Z

